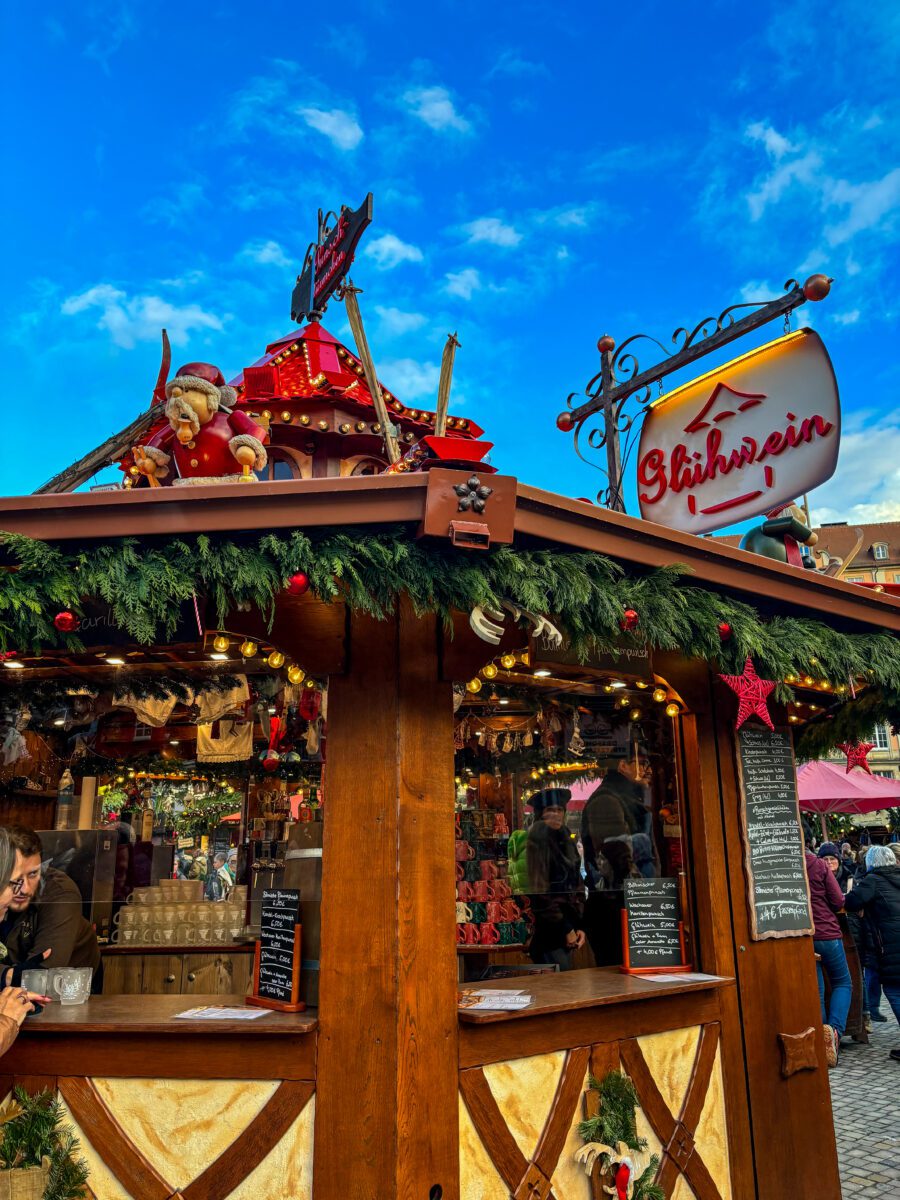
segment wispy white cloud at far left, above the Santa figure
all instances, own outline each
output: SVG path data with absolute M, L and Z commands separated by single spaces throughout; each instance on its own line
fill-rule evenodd
M 193 330 L 221 330 L 222 320 L 199 305 L 173 305 L 157 295 L 128 296 L 112 283 L 97 283 L 62 302 L 66 317 L 100 312 L 97 329 L 106 330 L 115 346 L 132 349 L 137 342 L 157 341 L 167 329 L 173 346 L 184 346 Z

